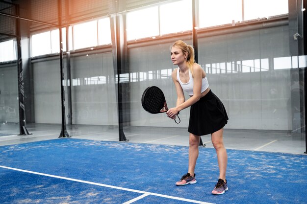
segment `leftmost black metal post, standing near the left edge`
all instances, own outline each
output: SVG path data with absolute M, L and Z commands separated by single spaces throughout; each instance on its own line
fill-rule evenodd
M 15 5 L 16 15 L 19 16 L 19 5 Z M 25 113 L 25 93 L 24 93 L 24 71 L 23 59 L 21 53 L 21 26 L 20 20 L 16 19 L 17 33 L 17 72 L 18 72 L 18 101 L 19 101 L 19 134 L 30 135 L 26 129 L 26 113 Z

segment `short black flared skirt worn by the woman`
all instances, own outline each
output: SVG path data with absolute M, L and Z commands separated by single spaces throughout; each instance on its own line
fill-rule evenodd
M 197 136 L 212 134 L 222 129 L 227 121 L 222 101 L 210 90 L 191 106 L 188 132 Z

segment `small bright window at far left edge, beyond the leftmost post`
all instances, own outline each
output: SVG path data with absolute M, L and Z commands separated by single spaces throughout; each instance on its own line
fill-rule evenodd
M 16 41 L 10 40 L 0 43 L 0 62 L 16 60 Z

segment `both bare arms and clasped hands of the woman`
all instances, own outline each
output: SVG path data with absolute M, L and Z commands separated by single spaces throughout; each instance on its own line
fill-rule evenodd
M 203 69 L 201 68 L 201 66 L 195 63 L 192 67 L 192 70 L 193 70 L 193 79 L 194 79 L 193 96 L 183 102 L 182 100 L 179 99 L 179 97 L 182 97 L 181 94 L 183 95 L 182 88 L 177 80 L 176 75 L 175 77 L 176 77 L 177 83 L 175 83 L 174 76 L 173 76 L 174 73 L 172 73 L 173 81 L 175 83 L 176 90 L 177 90 L 178 99 L 177 99 L 176 107 L 171 108 L 168 110 L 168 112 L 166 112 L 168 117 L 171 117 L 171 118 L 174 117 L 174 115 L 177 115 L 179 111 L 192 106 L 194 103 L 199 101 L 199 99 L 201 98 Z M 184 95 L 183 95 L 183 98 L 184 98 Z

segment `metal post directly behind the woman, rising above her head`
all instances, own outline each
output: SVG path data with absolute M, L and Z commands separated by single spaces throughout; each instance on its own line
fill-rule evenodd
M 195 51 L 195 62 L 198 63 L 198 43 L 197 43 L 197 27 L 198 27 L 198 0 L 192 0 L 192 15 L 193 15 L 193 29 L 192 29 L 192 41 Z M 205 147 L 202 137 L 198 146 Z

